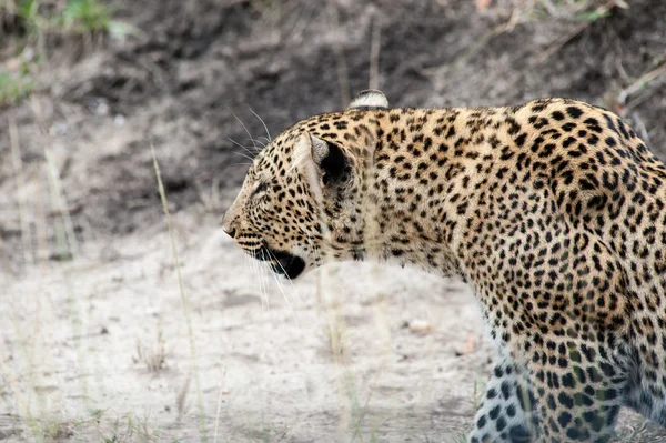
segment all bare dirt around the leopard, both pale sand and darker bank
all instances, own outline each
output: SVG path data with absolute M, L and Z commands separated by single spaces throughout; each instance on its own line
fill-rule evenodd
M 139 36 L 48 39 L 36 92 L 0 108 L 3 441 L 464 441 L 492 355 L 468 288 L 357 263 L 292 285 L 222 234 L 243 125 L 265 135 L 254 112 L 275 134 L 369 85 L 395 107 L 572 97 L 666 159 L 660 0 L 599 17 L 527 0 L 110 3 Z M 20 36 L 2 39 L 0 67 Z M 625 412 L 617 441 L 666 432 Z

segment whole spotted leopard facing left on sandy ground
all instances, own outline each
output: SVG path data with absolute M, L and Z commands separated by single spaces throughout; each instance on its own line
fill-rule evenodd
M 390 108 L 363 91 L 253 160 L 222 230 L 286 279 L 331 261 L 467 283 L 495 358 L 468 442 L 608 442 L 666 426 L 666 164 L 563 98 Z

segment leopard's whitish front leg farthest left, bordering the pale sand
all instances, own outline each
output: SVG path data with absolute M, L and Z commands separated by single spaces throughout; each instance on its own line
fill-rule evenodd
M 527 443 L 534 440 L 534 396 L 516 363 L 501 352 L 481 399 L 470 443 Z

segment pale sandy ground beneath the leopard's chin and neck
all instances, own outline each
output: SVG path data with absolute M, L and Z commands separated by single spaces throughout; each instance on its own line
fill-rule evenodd
M 163 224 L 2 281 L 1 440 L 464 441 L 492 355 L 465 285 L 357 263 L 292 285 L 215 219 L 173 225 L 186 308 Z

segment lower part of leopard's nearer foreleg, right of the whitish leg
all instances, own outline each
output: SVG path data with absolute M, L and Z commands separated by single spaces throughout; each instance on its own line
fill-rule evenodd
M 539 443 L 608 442 L 627 374 L 607 344 L 546 336 L 527 363 Z

